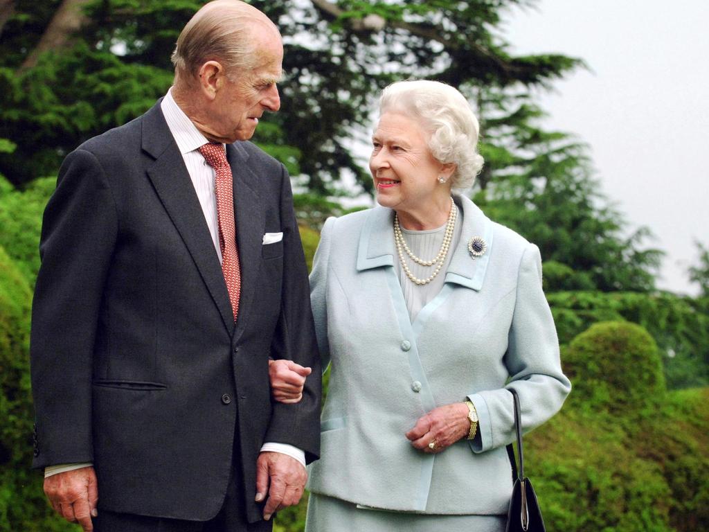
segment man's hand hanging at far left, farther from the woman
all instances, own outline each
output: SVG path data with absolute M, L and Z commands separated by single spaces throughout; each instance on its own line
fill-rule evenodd
M 79 523 L 84 532 L 92 532 L 91 516 L 98 515 L 99 487 L 93 467 L 57 473 L 45 478 L 45 494 L 57 514 L 69 523 Z

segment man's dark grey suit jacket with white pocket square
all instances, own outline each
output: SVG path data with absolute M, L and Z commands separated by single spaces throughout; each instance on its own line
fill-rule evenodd
M 289 176 L 252 143 L 227 155 L 242 269 L 236 324 L 159 104 L 70 153 L 45 211 L 33 465 L 94 462 L 100 508 L 208 520 L 234 472 L 256 521 L 262 443 L 317 458 L 320 363 Z M 262 245 L 279 232 L 281 242 Z M 313 368 L 299 404 L 272 401 L 269 356 Z

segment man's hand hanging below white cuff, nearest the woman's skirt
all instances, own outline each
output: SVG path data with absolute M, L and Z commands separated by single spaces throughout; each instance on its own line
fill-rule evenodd
M 298 504 L 306 487 L 308 472 L 301 462 L 282 453 L 264 452 L 256 460 L 256 501 L 261 502 L 268 492 L 264 519 L 286 506 Z

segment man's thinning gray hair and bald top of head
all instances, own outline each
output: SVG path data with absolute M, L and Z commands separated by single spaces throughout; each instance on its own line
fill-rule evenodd
M 172 52 L 175 73 L 190 81 L 207 61 L 218 61 L 228 77 L 252 68 L 255 62 L 253 33 L 278 28 L 261 11 L 240 0 L 214 0 L 190 19 Z

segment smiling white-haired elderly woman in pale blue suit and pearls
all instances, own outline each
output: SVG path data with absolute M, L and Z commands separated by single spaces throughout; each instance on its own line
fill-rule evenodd
M 306 530 L 503 531 L 508 388 L 523 431 L 571 389 L 540 253 L 459 194 L 483 163 L 462 94 L 398 82 L 380 105 L 369 160 L 379 206 L 328 219 L 311 274 L 332 374 Z M 277 398 L 293 392 L 272 375 Z

